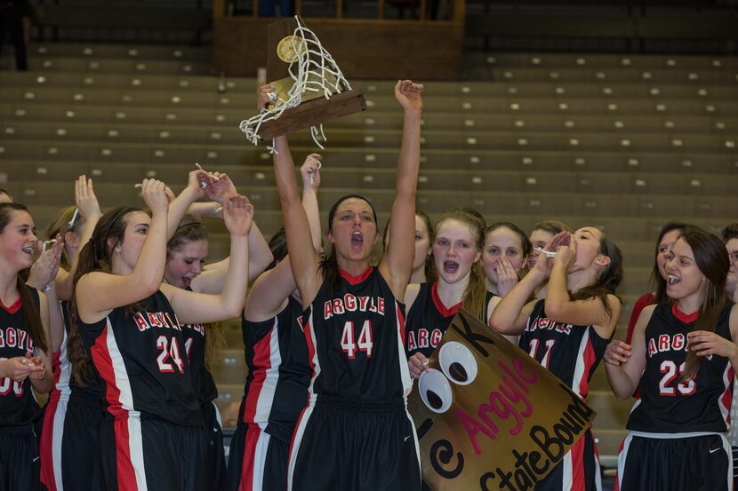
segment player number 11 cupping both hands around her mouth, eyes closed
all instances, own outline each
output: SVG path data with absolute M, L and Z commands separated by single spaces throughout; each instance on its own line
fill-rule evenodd
M 595 227 L 557 234 L 533 269 L 502 297 L 491 324 L 520 335 L 518 346 L 558 376 L 582 399 L 613 337 L 621 303 L 614 292 L 622 279 L 620 249 Z M 528 302 L 548 278 L 543 300 Z M 599 462 L 590 431 L 535 486 L 536 490 L 601 489 Z

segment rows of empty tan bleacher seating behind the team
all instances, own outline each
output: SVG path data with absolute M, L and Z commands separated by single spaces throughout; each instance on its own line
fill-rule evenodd
M 35 44 L 28 73 L 0 74 L 0 187 L 43 229 L 86 173 L 104 208 L 135 200 L 133 184 L 175 190 L 199 162 L 226 171 L 255 203 L 264 234 L 280 226 L 265 146 L 237 125 L 254 113 L 255 81 L 219 92 L 201 48 Z M 738 210 L 738 60 L 716 57 L 500 53 L 469 56 L 465 83 L 428 83 L 418 203 L 438 218 L 460 205 L 529 228 L 541 218 L 602 227 L 625 255 L 616 336 L 647 289 L 656 231 L 680 218 L 718 231 Z M 388 217 L 401 116 L 392 83 L 353 81 L 368 110 L 325 125 L 320 204 L 368 195 Z M 299 160 L 316 150 L 291 137 Z M 4 179 L 7 182 L 2 182 Z M 214 258 L 225 229 L 209 221 Z M 240 325 L 213 367 L 221 407 L 243 393 Z M 601 455 L 615 455 L 630 402 L 600 368 L 590 395 Z

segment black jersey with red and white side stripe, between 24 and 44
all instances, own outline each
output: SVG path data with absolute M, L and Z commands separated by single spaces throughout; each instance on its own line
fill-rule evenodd
M 302 305 L 288 298 L 268 321 L 242 316 L 245 360 L 249 368 L 238 421 L 260 424 L 280 440 L 292 440 L 294 425 L 308 402 L 308 346 L 302 330 Z

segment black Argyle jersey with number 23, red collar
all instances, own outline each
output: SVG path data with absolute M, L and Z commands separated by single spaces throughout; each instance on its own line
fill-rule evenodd
M 730 311 L 720 314 L 715 332 L 732 340 Z M 681 381 L 686 366 L 686 335 L 698 313 L 678 311 L 678 302 L 657 305 L 646 325 L 646 369 L 627 428 L 637 432 L 727 432 L 733 398 L 733 368 L 718 355 L 702 358 L 697 373 Z

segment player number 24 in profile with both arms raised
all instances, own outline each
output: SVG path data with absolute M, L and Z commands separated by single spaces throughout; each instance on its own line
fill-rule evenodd
M 141 194 L 150 218 L 133 208 L 110 210 L 79 253 L 70 319 L 86 351 L 70 334 L 73 376 L 84 381 L 92 364 L 100 375 L 106 417 L 99 448 L 108 489 L 206 489 L 208 435 L 181 325 L 221 321 L 243 308 L 253 207 L 240 195 L 225 202 L 229 273 L 220 295 L 205 295 L 162 284 L 164 183 L 144 179 Z

